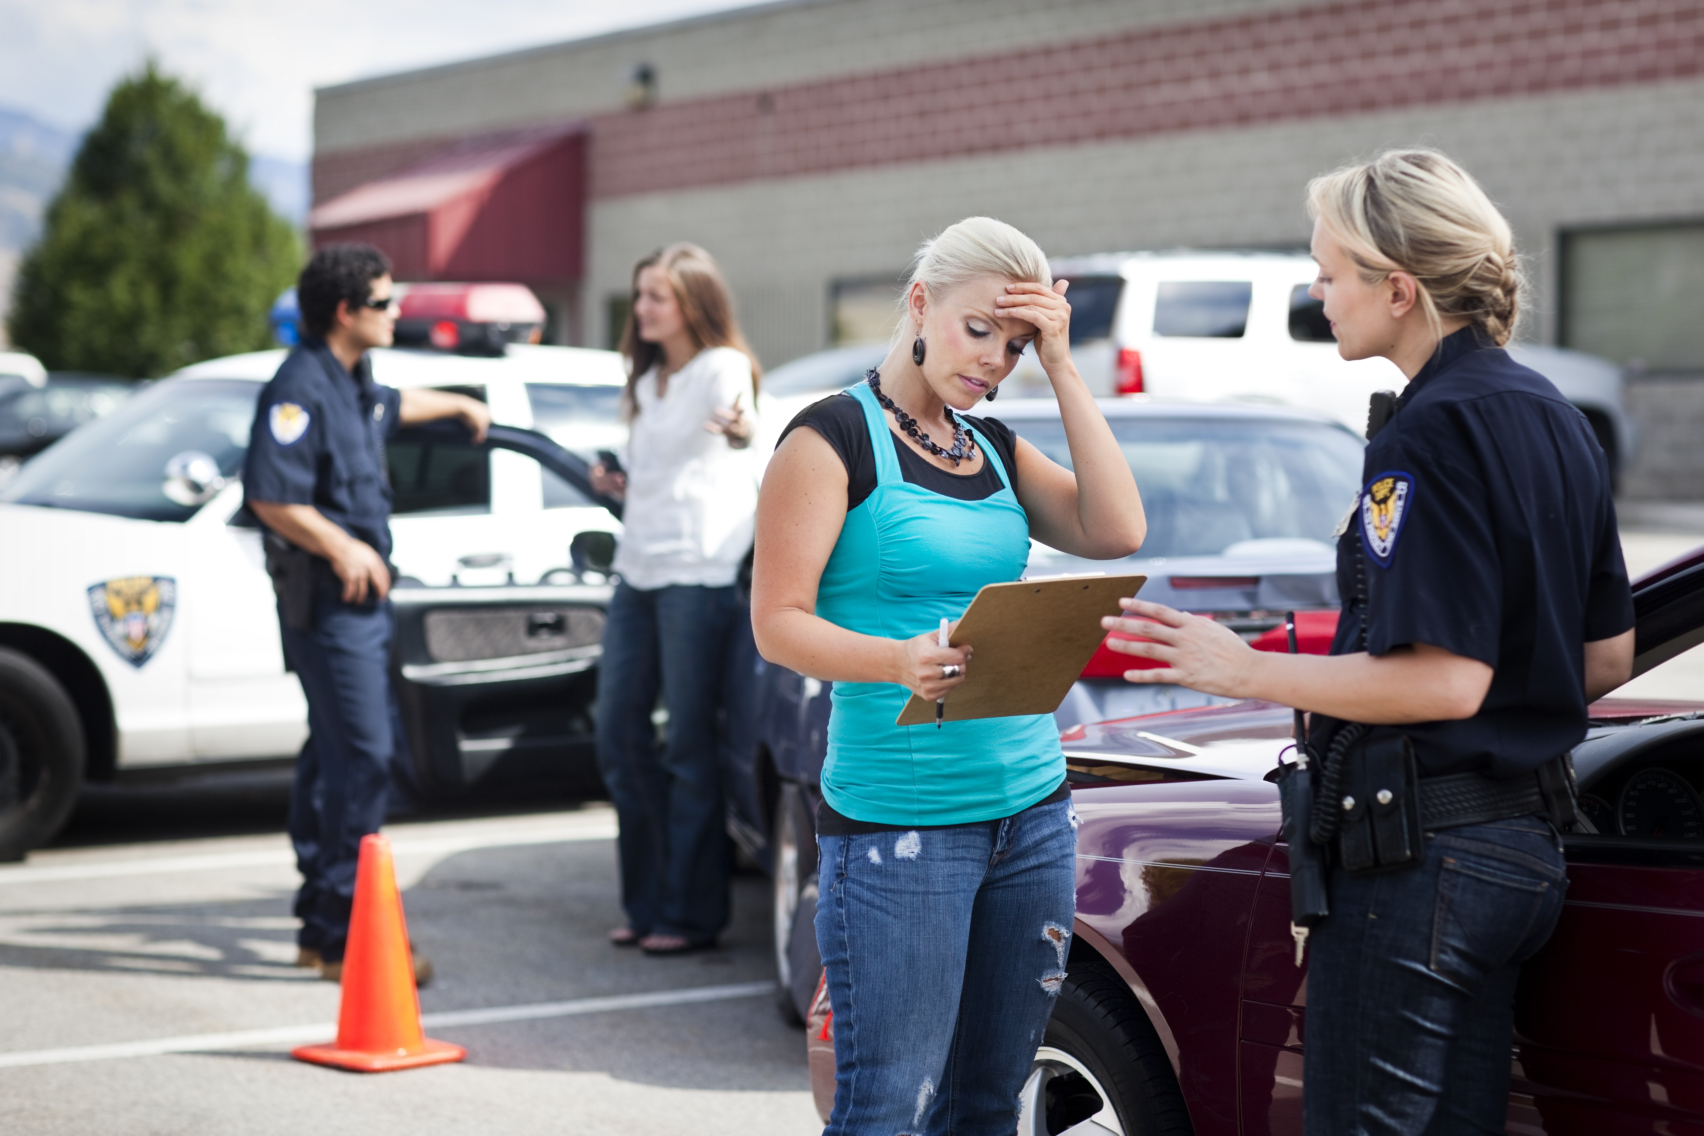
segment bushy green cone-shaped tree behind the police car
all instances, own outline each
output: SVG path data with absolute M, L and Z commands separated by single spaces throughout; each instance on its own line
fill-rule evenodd
M 7 330 L 49 370 L 164 375 L 269 346 L 266 312 L 298 264 L 225 121 L 150 60 L 83 138 Z

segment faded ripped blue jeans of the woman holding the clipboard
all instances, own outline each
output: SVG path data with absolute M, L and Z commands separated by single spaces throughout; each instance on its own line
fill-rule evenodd
M 1004 821 L 818 836 L 835 1013 L 826 1134 L 1010 1136 L 1077 913 L 1070 800 Z

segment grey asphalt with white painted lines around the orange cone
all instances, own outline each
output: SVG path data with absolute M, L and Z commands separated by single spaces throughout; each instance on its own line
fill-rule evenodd
M 804 1037 L 774 1007 L 767 881 L 734 879 L 717 950 L 613 949 L 602 802 L 387 824 L 409 930 L 438 969 L 426 1032 L 467 1061 L 293 1061 L 332 1037 L 339 991 L 293 966 L 283 787 L 104 790 L 55 848 L 0 865 L 0 1133 L 820 1129 Z

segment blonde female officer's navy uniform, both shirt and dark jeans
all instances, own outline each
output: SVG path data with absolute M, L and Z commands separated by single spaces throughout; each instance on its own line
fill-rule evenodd
M 1406 734 L 1421 799 L 1460 773 L 1530 785 L 1585 737 L 1581 644 L 1634 620 L 1585 417 L 1477 329 L 1448 336 L 1367 446 L 1338 586 L 1333 654 L 1431 644 L 1493 668 L 1474 717 L 1365 744 Z M 1503 1131 L 1515 983 L 1568 886 L 1537 812 L 1426 821 L 1418 867 L 1350 874 L 1339 855 L 1309 964 L 1310 1134 Z

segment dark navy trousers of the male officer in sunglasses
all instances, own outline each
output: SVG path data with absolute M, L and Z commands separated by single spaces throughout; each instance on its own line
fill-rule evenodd
M 343 959 L 361 836 L 385 819 L 390 778 L 390 605 L 351 606 L 315 596 L 314 630 L 283 630 L 285 654 L 308 700 L 308 741 L 290 792 L 296 848 L 296 942 Z

